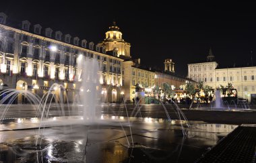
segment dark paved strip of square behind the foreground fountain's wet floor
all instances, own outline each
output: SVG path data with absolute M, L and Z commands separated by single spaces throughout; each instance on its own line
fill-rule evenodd
M 175 105 L 165 105 L 170 115 L 170 119 L 179 119 L 177 116 L 177 109 Z M 36 117 L 38 115 L 36 106 L 32 105 L 11 105 L 9 110 L 5 114 L 5 119 L 17 119 L 17 118 L 27 118 Z M 139 112 L 138 112 L 139 110 Z M 205 121 L 207 123 L 226 123 L 226 124 L 236 124 L 241 125 L 243 123 L 256 123 L 256 109 L 211 109 L 210 107 L 205 108 L 193 108 L 193 109 L 181 109 L 187 119 L 193 121 Z M 152 117 L 159 119 L 167 119 L 166 112 L 162 105 L 98 105 L 96 109 L 98 115 L 119 115 L 123 117 Z M 3 109 L 0 109 L 0 115 L 2 115 Z M 49 110 L 49 117 L 59 117 L 59 116 L 75 116 L 82 115 L 83 109 L 80 107 L 72 107 L 72 105 L 67 107 L 64 105 L 63 110 L 60 110 L 57 105 L 51 105 Z M 183 117 L 181 117 L 183 118 Z M 1 119 L 1 118 L 0 118 Z

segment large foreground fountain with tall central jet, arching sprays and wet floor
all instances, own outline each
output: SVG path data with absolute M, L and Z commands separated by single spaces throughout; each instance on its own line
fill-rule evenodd
M 199 150 L 205 149 L 203 141 L 199 147 L 193 144 L 195 141 L 186 141 L 193 139 L 193 135 L 201 138 L 201 132 L 205 132 L 201 127 L 205 124 L 195 127 L 201 122 L 188 123 L 174 102 L 174 105 L 153 105 L 157 114 L 162 113 L 160 118 L 148 117 L 144 105 L 133 107 L 124 99 L 118 111 L 109 106 L 107 110 L 102 109 L 98 103 L 101 90 L 98 61 L 82 60 L 78 65 L 82 67 L 82 82 L 72 105 L 64 103 L 67 93 L 64 93 L 63 85 L 57 83 L 42 98 L 28 91 L 7 90 L 9 96 L 0 101 L 0 161 L 178 162 L 195 160 L 200 156 Z M 32 101 L 32 107 L 26 106 L 26 109 L 33 108 L 34 116 L 30 113 L 30 117 L 20 117 L 15 112 L 20 108 L 15 109 L 11 101 L 1 105 L 7 99 L 15 100 L 20 93 L 27 93 Z M 172 111 L 174 114 L 170 115 Z M 220 131 L 210 134 L 216 134 L 210 144 L 213 146 Z M 183 148 L 183 144 L 188 146 Z M 189 153 L 185 158 L 182 149 L 187 151 L 185 154 Z M 191 155 L 191 152 L 195 154 Z

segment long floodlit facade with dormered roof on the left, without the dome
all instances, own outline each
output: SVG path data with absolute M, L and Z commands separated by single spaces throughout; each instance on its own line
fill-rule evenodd
M 51 28 L 22 21 L 8 25 L 7 15 L 0 13 L 0 83 L 10 89 L 29 90 L 42 95 L 53 85 L 64 85 L 69 101 L 79 91 L 81 58 L 96 58 L 100 67 L 102 101 L 121 99 L 123 59 L 107 54 L 106 47 L 54 32 Z M 18 103 L 21 101 L 18 97 Z M 65 99 L 67 101 L 67 99 Z

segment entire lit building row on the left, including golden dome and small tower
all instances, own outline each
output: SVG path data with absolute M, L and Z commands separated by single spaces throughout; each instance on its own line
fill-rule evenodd
M 65 87 L 67 101 L 73 101 L 81 89 L 81 58 L 95 58 L 100 68 L 102 102 L 129 102 L 135 97 L 135 85 L 154 87 L 161 81 L 175 85 L 185 83 L 184 78 L 173 74 L 142 68 L 140 59 L 131 58 L 131 44 L 123 40 L 123 34 L 113 22 L 106 37 L 99 44 L 72 38 L 70 34 L 42 28 L 22 21 L 21 25 L 9 25 L 7 15 L 0 13 L 0 89 L 28 90 L 42 97 L 54 84 Z M 166 72 L 174 73 L 174 62 L 166 59 Z M 156 77 L 158 76 L 158 78 Z M 19 95 L 18 103 L 22 101 Z

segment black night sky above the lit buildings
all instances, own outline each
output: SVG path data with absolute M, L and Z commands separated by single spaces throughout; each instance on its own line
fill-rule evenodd
M 113 20 L 141 64 L 163 68 L 172 58 L 177 74 L 205 61 L 209 48 L 222 67 L 256 65 L 256 7 L 253 3 L 172 1 L 1 1 L 9 19 L 98 43 Z M 253 53 L 251 54 L 251 49 Z

